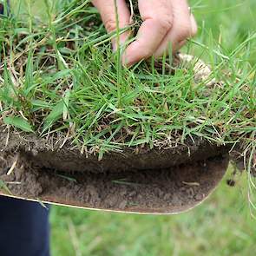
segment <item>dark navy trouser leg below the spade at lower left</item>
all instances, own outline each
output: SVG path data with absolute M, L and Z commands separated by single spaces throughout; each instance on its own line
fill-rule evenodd
M 0 196 L 0 255 L 49 256 L 49 210 Z

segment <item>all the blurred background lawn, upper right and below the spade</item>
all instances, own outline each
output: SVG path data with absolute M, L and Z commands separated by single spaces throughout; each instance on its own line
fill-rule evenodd
M 207 44 L 212 30 L 227 51 L 255 31 L 256 1 L 190 1 Z M 253 16 L 254 13 L 254 16 Z M 211 35 L 209 35 L 211 36 Z M 255 64 L 256 49 L 250 61 Z M 53 207 L 52 253 L 62 255 L 254 255 L 256 225 L 247 200 L 246 174 L 236 187 L 226 179 L 211 196 L 189 213 L 138 216 Z

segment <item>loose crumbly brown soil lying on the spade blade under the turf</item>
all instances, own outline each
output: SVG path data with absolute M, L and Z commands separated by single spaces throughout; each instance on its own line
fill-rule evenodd
M 11 165 L 16 166 L 7 175 Z M 228 158 L 122 173 L 63 173 L 2 153 L 0 180 L 11 193 L 65 205 L 140 213 L 179 213 L 204 200 L 226 172 Z M 6 193 L 6 191 L 5 191 Z

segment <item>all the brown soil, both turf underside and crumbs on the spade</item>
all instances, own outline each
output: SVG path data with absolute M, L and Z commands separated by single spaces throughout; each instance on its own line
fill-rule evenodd
M 15 196 L 116 211 L 187 210 L 216 187 L 228 164 L 227 148 L 200 140 L 162 151 L 144 148 L 138 154 L 127 149 L 102 161 L 35 136 L 13 133 L 7 147 L 5 141 L 2 133 L 0 180 Z

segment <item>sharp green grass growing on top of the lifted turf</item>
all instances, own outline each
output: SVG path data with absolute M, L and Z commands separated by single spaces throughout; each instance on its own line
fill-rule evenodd
M 120 52 L 110 45 L 115 34 L 106 35 L 89 1 L 45 0 L 38 16 L 35 4 L 16 1 L 14 15 L 1 22 L 4 124 L 41 136 L 62 132 L 100 158 L 125 146 L 172 146 L 194 136 L 240 142 L 248 152 L 255 147 L 255 31 L 227 43 L 223 23 L 218 42 L 216 30 L 202 28 L 188 43 L 186 52 L 213 67 L 209 80 L 222 81 L 209 89 L 206 81 L 194 82 L 194 64 L 170 75 L 171 57 L 159 61 L 161 70 L 154 60 L 121 68 Z M 204 10 L 200 2 L 193 6 Z

